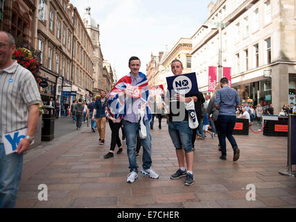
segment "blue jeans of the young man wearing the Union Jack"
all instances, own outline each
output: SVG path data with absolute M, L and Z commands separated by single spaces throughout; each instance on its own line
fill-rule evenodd
M 151 160 L 151 135 L 148 120 L 144 121 L 146 126 L 147 137 L 141 139 L 141 146 L 143 146 L 143 169 L 149 169 L 152 164 Z M 128 147 L 128 161 L 130 162 L 130 172 L 138 173 L 138 164 L 136 159 L 136 137 L 139 134 L 139 123 L 132 123 L 123 119 L 123 129 L 126 136 L 126 146 Z

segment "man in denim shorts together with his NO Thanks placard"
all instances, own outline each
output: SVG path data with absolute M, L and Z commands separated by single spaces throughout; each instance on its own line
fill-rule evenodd
M 198 101 L 198 94 L 194 90 L 198 90 L 195 80 L 191 80 L 188 76 L 179 76 L 182 74 L 183 65 L 180 60 L 173 60 L 171 69 L 175 76 L 166 78 L 168 82 L 169 107 L 168 114 L 168 133 L 171 136 L 176 149 L 179 169 L 171 176 L 171 179 L 186 177 L 184 185 L 193 185 L 193 150 L 192 150 L 192 130 L 189 128 L 189 112 L 185 108 L 185 103 L 189 103 L 192 99 L 194 103 Z M 195 74 L 193 75 L 195 76 Z M 193 90 L 193 91 L 192 91 Z M 198 91 L 197 91 L 198 92 Z M 168 94 L 167 94 L 168 97 Z M 185 161 L 187 171 L 185 169 Z

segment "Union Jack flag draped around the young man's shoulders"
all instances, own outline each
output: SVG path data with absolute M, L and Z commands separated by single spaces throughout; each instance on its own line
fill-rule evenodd
M 148 87 L 148 79 L 146 75 L 139 72 L 139 76 L 143 78 L 139 83 L 137 83 L 137 87 L 141 89 L 141 100 L 146 101 L 148 104 L 146 106 L 146 114 L 148 117 L 148 121 L 151 120 L 151 110 L 150 110 L 150 103 L 149 103 L 149 87 Z M 116 119 L 122 119 L 127 110 L 127 96 L 119 96 L 121 92 L 123 92 L 128 85 L 132 85 L 132 77 L 131 74 L 123 76 L 116 85 L 112 88 L 109 96 L 108 96 L 108 103 L 110 106 L 110 114 Z

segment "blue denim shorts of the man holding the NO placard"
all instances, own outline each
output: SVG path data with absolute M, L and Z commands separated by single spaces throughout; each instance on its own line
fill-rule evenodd
M 176 150 L 184 149 L 185 153 L 192 152 L 192 130 L 188 121 L 168 122 L 168 133 L 171 136 Z

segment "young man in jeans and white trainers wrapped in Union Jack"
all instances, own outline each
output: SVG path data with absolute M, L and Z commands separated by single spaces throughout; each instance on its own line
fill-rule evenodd
M 152 114 L 149 108 L 149 87 L 146 75 L 139 72 L 141 61 L 133 56 L 128 62 L 130 74 L 123 76 L 109 95 L 110 114 L 115 119 L 123 119 L 123 129 L 126 136 L 128 148 L 128 160 L 130 173 L 127 182 L 134 182 L 138 178 L 138 165 L 136 160 L 135 147 L 136 137 L 141 130 L 140 126 L 146 128 L 146 137 L 141 139 L 143 146 L 143 165 L 141 174 L 157 179 L 159 175 L 151 168 L 151 135 L 149 122 Z M 145 110 L 143 116 L 139 115 L 139 110 Z M 140 124 L 142 121 L 142 124 Z M 145 129 L 144 129 L 145 131 Z

